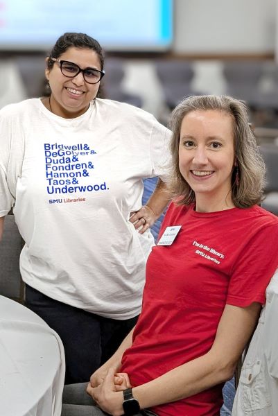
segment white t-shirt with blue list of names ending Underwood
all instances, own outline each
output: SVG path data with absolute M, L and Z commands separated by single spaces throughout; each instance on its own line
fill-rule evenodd
M 128 219 L 142 179 L 167 179 L 169 130 L 116 101 L 63 119 L 33 98 L 4 107 L 0 131 L 0 216 L 14 205 L 24 281 L 107 318 L 137 315 L 154 241 Z

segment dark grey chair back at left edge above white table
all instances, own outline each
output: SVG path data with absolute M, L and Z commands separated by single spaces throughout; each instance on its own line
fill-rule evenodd
M 19 272 L 22 245 L 14 216 L 6 216 L 0 243 L 0 295 L 19 302 L 24 300 L 24 284 Z

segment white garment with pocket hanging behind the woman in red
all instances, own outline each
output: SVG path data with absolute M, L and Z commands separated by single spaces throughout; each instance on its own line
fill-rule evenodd
M 248 348 L 232 416 L 278 415 L 278 270 L 266 289 L 266 306 Z

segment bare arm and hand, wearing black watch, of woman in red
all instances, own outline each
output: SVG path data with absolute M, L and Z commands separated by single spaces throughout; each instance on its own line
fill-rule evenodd
M 261 305 L 246 308 L 226 305 L 214 345 L 204 356 L 180 365 L 149 383 L 132 388 L 141 408 L 184 399 L 226 381 L 234 374 L 238 358 L 257 323 Z M 111 391 L 110 374 L 103 386 L 93 389 L 97 403 L 114 416 L 123 414 L 122 392 Z M 110 392 L 108 390 L 110 389 Z

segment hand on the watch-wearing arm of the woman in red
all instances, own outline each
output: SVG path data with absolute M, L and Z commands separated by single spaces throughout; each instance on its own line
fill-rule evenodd
M 110 368 L 103 383 L 98 385 L 98 387 L 92 387 L 91 383 L 87 385 L 87 393 L 92 396 L 103 411 L 112 416 L 121 416 L 123 415 L 123 393 L 116 391 L 114 378 L 114 368 Z

